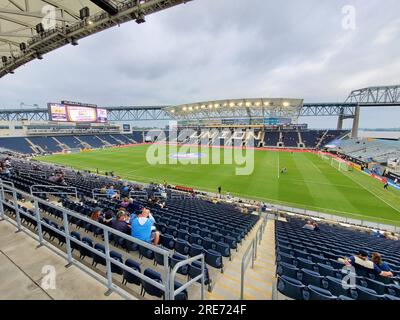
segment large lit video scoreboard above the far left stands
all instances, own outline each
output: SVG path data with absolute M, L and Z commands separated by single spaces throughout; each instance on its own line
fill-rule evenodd
M 98 108 L 93 104 L 62 101 L 61 103 L 49 103 L 48 109 L 50 121 L 77 123 L 108 122 L 107 110 Z

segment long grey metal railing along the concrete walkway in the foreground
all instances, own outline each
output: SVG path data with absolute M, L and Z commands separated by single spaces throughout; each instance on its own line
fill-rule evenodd
M 12 186 L 7 186 L 6 183 L 4 183 L 3 181 L 0 181 L 0 186 L 1 186 L 2 190 L 8 190 L 9 192 L 12 192 L 12 194 L 13 194 L 12 206 L 13 206 L 13 209 L 15 210 L 15 213 L 16 213 L 18 231 L 22 230 L 21 214 L 23 216 L 26 216 L 26 217 L 35 218 L 36 223 L 37 223 L 37 227 L 38 227 L 38 230 L 37 230 L 38 236 L 39 236 L 38 240 L 39 240 L 39 243 L 41 245 L 43 245 L 44 242 L 45 242 L 44 239 L 43 239 L 43 231 L 42 231 L 42 227 L 43 226 L 45 226 L 46 228 L 48 228 L 48 229 L 56 232 L 57 234 L 60 234 L 60 235 L 65 237 L 66 247 L 67 247 L 67 261 L 68 261 L 69 264 L 77 263 L 72 258 L 71 242 L 79 244 L 80 246 L 86 248 L 90 252 L 93 252 L 94 254 L 97 254 L 100 257 L 104 258 L 106 260 L 106 269 L 107 269 L 107 287 L 108 287 L 107 293 L 115 290 L 115 287 L 113 285 L 113 279 L 112 279 L 112 276 L 111 276 L 112 275 L 112 273 L 111 273 L 111 264 L 119 266 L 121 269 L 123 269 L 123 270 L 125 270 L 125 271 L 127 271 L 127 272 L 129 272 L 129 273 L 131 273 L 131 274 L 133 274 L 135 276 L 137 276 L 141 280 L 146 281 L 146 282 L 154 285 L 158 289 L 164 291 L 165 299 L 167 299 L 167 300 L 174 299 L 175 295 L 179 294 L 179 292 L 181 292 L 181 291 L 178 291 L 174 295 L 174 292 L 171 291 L 171 289 L 170 289 L 171 288 L 170 287 L 171 274 L 170 274 L 170 268 L 169 268 L 169 257 L 171 255 L 171 253 L 168 250 L 165 250 L 165 249 L 163 249 L 161 247 L 154 246 L 154 245 L 149 244 L 147 242 L 141 241 L 141 240 L 139 240 L 137 238 L 130 237 L 130 236 L 124 234 L 124 233 L 119 232 L 118 230 L 115 230 L 115 229 L 112 229 L 110 227 L 107 227 L 107 226 L 105 226 L 105 225 L 103 225 L 103 224 L 101 224 L 101 223 L 99 223 L 97 221 L 93 221 L 93 220 L 91 220 L 91 219 L 89 219 L 89 218 L 87 218 L 87 217 L 85 217 L 83 215 L 80 215 L 80 214 L 78 214 L 76 212 L 73 212 L 73 211 L 71 211 L 69 209 L 65 209 L 65 208 L 59 207 L 57 205 L 54 205 L 52 203 L 49 203 L 49 202 L 47 202 L 47 201 L 45 201 L 43 199 L 40 199 L 40 198 L 36 197 L 35 195 L 27 194 L 26 192 L 20 191 L 20 190 L 14 188 Z M 28 212 L 25 212 L 24 210 L 22 210 L 19 207 L 18 201 L 17 201 L 17 193 L 21 194 L 22 196 L 25 196 L 25 197 L 28 197 L 28 198 L 32 198 L 32 200 L 34 201 L 34 204 L 35 204 L 35 215 L 34 216 L 29 214 Z M 1 210 L 0 217 L 1 217 L 1 216 L 4 215 L 3 204 L 6 204 L 7 206 L 11 206 L 11 202 L 7 202 L 6 198 L 3 195 L 0 194 L 0 204 L 1 204 L 1 206 L 0 206 L 0 210 Z M 56 210 L 59 210 L 59 211 L 61 211 L 63 213 L 64 231 L 58 230 L 58 229 L 54 228 L 53 226 L 51 226 L 51 225 L 49 225 L 46 222 L 41 220 L 39 204 L 44 204 L 44 205 L 46 205 L 48 207 L 51 207 L 51 208 L 56 209 Z M 82 220 L 84 222 L 92 224 L 95 227 L 101 228 L 103 230 L 103 232 L 104 232 L 104 241 L 105 241 L 106 252 L 102 253 L 100 251 L 97 251 L 96 249 L 86 245 L 81 240 L 78 240 L 78 239 L 72 237 L 71 234 L 70 234 L 70 231 L 69 231 L 68 216 L 72 216 L 72 217 L 78 218 L 78 219 L 80 219 L 80 220 Z M 136 243 L 136 244 L 138 244 L 138 245 L 140 245 L 142 247 L 145 247 L 147 249 L 152 250 L 153 252 L 156 252 L 156 253 L 159 253 L 159 254 L 163 255 L 164 256 L 164 271 L 165 271 L 163 283 L 159 283 L 159 282 L 157 282 L 157 281 L 145 276 L 144 274 L 142 274 L 140 272 L 137 272 L 136 270 L 133 270 L 132 268 L 127 267 L 126 265 L 122 264 L 121 262 L 111 258 L 110 257 L 110 250 L 109 250 L 109 247 L 108 247 L 109 246 L 109 241 L 108 241 L 109 234 L 117 235 L 120 238 L 123 238 L 123 239 L 125 239 L 125 240 L 127 240 L 129 242 Z M 198 259 L 199 259 L 199 257 L 197 257 L 197 260 Z M 188 264 L 188 263 L 191 263 L 192 261 L 194 261 L 193 258 L 184 260 L 182 262 L 184 264 Z M 202 261 L 203 261 L 202 262 L 202 271 L 203 272 L 200 275 L 201 277 L 203 277 L 203 275 L 204 275 L 204 268 L 203 268 L 204 267 L 204 259 Z M 196 277 L 195 279 L 198 280 L 199 278 Z M 192 279 L 192 280 L 194 280 L 194 279 Z M 193 283 L 194 283 L 194 281 L 189 281 L 188 283 L 185 284 L 184 289 L 186 289 L 187 287 L 189 287 Z M 182 290 L 184 290 L 184 289 L 182 289 Z

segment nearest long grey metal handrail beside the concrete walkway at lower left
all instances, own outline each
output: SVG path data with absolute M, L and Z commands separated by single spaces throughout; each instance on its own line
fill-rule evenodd
M 34 204 L 34 214 L 33 215 L 29 214 L 28 211 L 24 211 L 18 205 L 17 195 L 21 195 L 25 199 L 31 199 L 33 201 L 33 204 Z M 41 212 L 39 209 L 40 204 L 62 212 L 62 220 L 63 220 L 62 222 L 63 222 L 64 230 L 57 229 L 54 226 L 46 223 L 45 221 L 42 221 Z M 182 292 L 184 289 L 188 288 L 189 286 L 193 285 L 197 280 L 199 280 L 200 278 L 204 279 L 204 270 L 205 270 L 204 264 L 205 264 L 205 262 L 204 262 L 203 255 L 181 261 L 179 264 L 177 264 L 178 268 L 174 268 L 172 270 L 173 272 L 171 273 L 170 264 L 169 264 L 170 256 L 171 256 L 170 251 L 168 251 L 162 247 L 154 246 L 147 242 L 143 242 L 139 239 L 128 236 L 124 233 L 121 233 L 121 232 L 115 230 L 115 229 L 109 228 L 101 223 L 93 221 L 77 212 L 73 212 L 71 210 L 65 209 L 63 207 L 57 206 L 57 205 L 47 202 L 43 199 L 40 199 L 33 194 L 27 194 L 26 192 L 16 189 L 14 187 L 13 183 L 10 183 L 7 181 L 2 181 L 0 179 L 0 220 L 7 219 L 6 214 L 5 214 L 6 207 L 8 207 L 9 209 L 11 209 L 12 211 L 15 212 L 16 227 L 17 227 L 18 232 L 23 231 L 21 217 L 28 217 L 30 219 L 34 219 L 35 223 L 37 224 L 38 238 L 36 240 L 39 242 L 40 245 L 52 246 L 52 244 L 50 242 L 46 241 L 43 237 L 43 227 L 45 227 L 47 230 L 51 230 L 54 233 L 64 237 L 65 244 L 66 244 L 66 260 L 68 261 L 69 265 L 73 265 L 73 264 L 79 265 L 80 264 L 80 262 L 76 261 L 72 256 L 71 243 L 75 243 L 75 244 L 79 245 L 80 247 L 83 247 L 83 248 L 89 250 L 92 254 L 105 259 L 105 261 L 106 261 L 106 285 L 108 288 L 108 291 L 106 292 L 107 295 L 113 291 L 118 291 L 118 287 L 114 284 L 114 280 L 112 277 L 112 271 L 111 271 L 112 265 L 118 266 L 125 272 L 128 272 L 128 273 L 138 277 L 139 279 L 145 281 L 146 283 L 149 283 L 149 284 L 155 286 L 156 288 L 162 290 L 164 292 L 164 298 L 166 300 L 173 300 L 177 294 L 179 294 L 180 292 Z M 92 226 L 102 229 L 103 234 L 104 234 L 104 248 L 105 248 L 104 253 L 94 249 L 91 246 L 88 246 L 86 243 L 82 242 L 81 240 L 78 240 L 78 239 L 74 238 L 73 236 L 71 236 L 71 232 L 70 232 L 70 228 L 69 228 L 69 219 L 71 217 L 77 218 L 86 223 L 90 223 Z M 144 274 L 140 273 L 139 271 L 136 271 L 136 270 L 126 266 L 125 264 L 111 258 L 111 256 L 110 256 L 110 251 L 111 251 L 110 250 L 110 240 L 109 240 L 110 235 L 115 235 L 119 238 L 123 238 L 126 241 L 128 241 L 129 243 L 135 243 L 141 247 L 152 250 L 154 253 L 163 255 L 164 274 L 162 277 L 163 278 L 162 283 L 159 283 L 159 282 L 145 276 Z M 203 273 L 200 276 L 192 279 L 191 281 L 188 281 L 187 283 L 183 284 L 182 285 L 183 289 L 181 287 L 175 291 L 173 285 L 170 285 L 170 283 L 172 281 L 172 284 L 174 284 L 174 278 L 175 278 L 176 271 L 179 269 L 180 266 L 189 264 L 195 260 L 201 260 L 201 268 L 202 268 Z M 201 291 L 202 291 L 201 297 L 204 298 L 204 286 L 201 287 Z

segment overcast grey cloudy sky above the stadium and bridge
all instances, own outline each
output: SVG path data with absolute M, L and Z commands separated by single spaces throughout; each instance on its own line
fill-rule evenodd
M 355 8 L 354 30 L 342 26 L 346 5 Z M 399 0 L 194 0 L 17 69 L 0 79 L 0 107 L 64 99 L 100 106 L 344 101 L 353 89 L 400 84 L 399 12 Z M 374 109 L 363 112 L 361 126 L 400 127 L 399 119 L 400 108 Z

